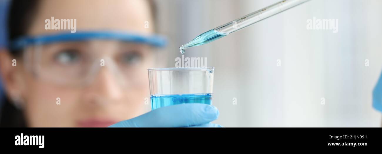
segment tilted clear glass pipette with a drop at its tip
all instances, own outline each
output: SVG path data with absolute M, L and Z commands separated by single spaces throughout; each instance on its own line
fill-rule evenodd
M 270 16 L 276 15 L 282 11 L 288 10 L 290 8 L 293 8 L 307 1 L 309 0 L 282 0 L 273 5 L 262 8 L 261 10 L 249 13 L 248 15 L 245 15 L 241 18 L 238 18 L 229 23 L 226 23 L 224 25 L 211 29 L 203 34 L 200 34 L 199 36 L 194 38 L 192 41 L 189 41 L 183 46 L 180 46 L 179 47 L 180 53 L 183 54 L 185 52 L 185 49 L 187 48 L 190 48 L 193 46 L 200 46 L 200 45 L 215 41 L 217 39 L 220 39 L 224 36 L 227 36 L 228 34 L 231 34 L 235 31 L 243 29 L 249 25 L 257 23 Z

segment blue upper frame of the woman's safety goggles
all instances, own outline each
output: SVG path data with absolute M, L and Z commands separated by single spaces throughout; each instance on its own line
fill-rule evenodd
M 92 39 L 120 40 L 133 43 L 149 44 L 155 47 L 163 47 L 167 44 L 167 39 L 159 35 L 142 35 L 136 33 L 126 33 L 119 31 L 82 31 L 76 33 L 58 33 L 40 36 L 24 36 L 11 41 L 10 49 L 20 50 L 30 45 L 43 45 L 67 41 L 85 41 Z

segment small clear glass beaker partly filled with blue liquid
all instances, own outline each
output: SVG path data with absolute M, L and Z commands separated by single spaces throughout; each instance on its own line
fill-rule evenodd
M 214 67 L 148 69 L 151 110 L 181 103 L 212 103 Z

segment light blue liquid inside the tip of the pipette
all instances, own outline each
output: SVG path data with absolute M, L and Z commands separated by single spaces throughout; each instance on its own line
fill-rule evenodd
M 188 43 L 184 44 L 183 46 L 180 46 L 180 53 L 184 54 L 185 49 L 193 47 L 193 46 L 200 46 L 203 44 L 210 43 L 212 41 L 215 41 L 217 39 L 220 39 L 224 36 L 227 36 L 228 34 L 219 33 L 215 31 L 214 29 L 211 29 L 210 31 L 207 31 L 203 34 L 200 34 L 196 38 L 194 38 L 192 41 L 189 41 Z

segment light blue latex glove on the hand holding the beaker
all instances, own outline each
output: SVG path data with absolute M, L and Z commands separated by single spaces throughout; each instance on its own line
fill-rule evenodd
M 222 127 L 210 123 L 218 116 L 215 106 L 187 103 L 158 108 L 109 127 Z

